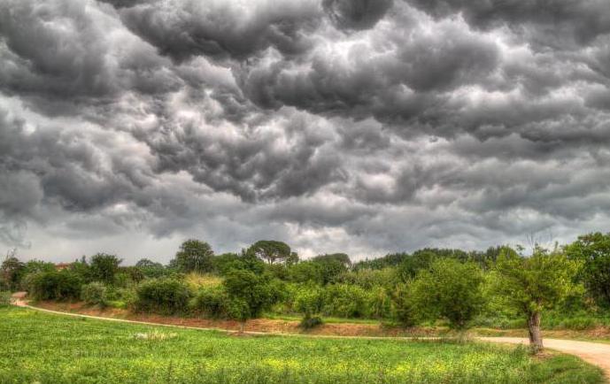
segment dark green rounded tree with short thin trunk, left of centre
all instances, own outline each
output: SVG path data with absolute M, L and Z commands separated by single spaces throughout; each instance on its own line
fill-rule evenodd
M 229 298 L 228 316 L 240 321 L 241 332 L 246 320 L 259 317 L 277 300 L 274 285 L 266 275 L 235 269 L 227 273 L 223 285 Z

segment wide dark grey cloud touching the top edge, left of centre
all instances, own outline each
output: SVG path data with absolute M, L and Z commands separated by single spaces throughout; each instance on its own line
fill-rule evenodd
M 120 17 L 162 55 L 178 61 L 196 55 L 247 59 L 268 47 L 294 55 L 311 46 L 307 32 L 320 19 L 315 2 L 258 3 L 153 2 L 123 9 Z

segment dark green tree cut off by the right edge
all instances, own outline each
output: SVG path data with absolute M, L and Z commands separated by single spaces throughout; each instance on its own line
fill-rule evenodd
M 585 234 L 565 247 L 566 256 L 583 264 L 580 280 L 599 305 L 610 307 L 610 234 Z

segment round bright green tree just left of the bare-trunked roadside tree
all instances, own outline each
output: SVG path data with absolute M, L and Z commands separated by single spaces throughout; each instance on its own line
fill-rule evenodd
M 454 258 L 436 259 L 410 286 L 415 311 L 424 318 L 449 320 L 464 329 L 483 309 L 483 273 L 478 265 Z

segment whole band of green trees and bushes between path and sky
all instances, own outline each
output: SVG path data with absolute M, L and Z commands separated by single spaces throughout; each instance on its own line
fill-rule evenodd
M 379 319 L 403 326 L 528 326 L 541 345 L 543 314 L 603 317 L 610 308 L 610 234 L 586 234 L 531 255 L 498 246 L 485 251 L 423 249 L 351 263 L 343 253 L 300 260 L 284 242 L 260 241 L 216 255 L 198 240 L 181 244 L 169 265 L 142 259 L 83 257 L 58 271 L 42 261 L 7 257 L 0 290 L 38 300 L 84 300 L 134 311 L 246 319 L 299 315 Z M 555 312 L 553 312 L 555 311 Z M 585 321 L 586 322 L 586 321 Z

